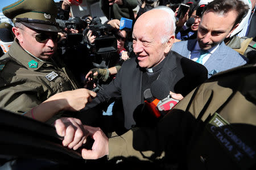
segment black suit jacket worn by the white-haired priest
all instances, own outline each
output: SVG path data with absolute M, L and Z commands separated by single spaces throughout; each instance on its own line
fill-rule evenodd
M 166 57 L 158 79 L 166 82 L 170 91 L 185 96 L 208 78 L 207 69 L 200 63 L 172 50 Z M 142 74 L 143 69 L 139 67 L 137 58 L 127 59 L 113 81 L 104 90 L 97 92 L 96 98 L 86 104 L 83 110 L 121 98 L 124 125 L 126 129 L 130 129 L 136 125 L 134 112 L 142 104 Z

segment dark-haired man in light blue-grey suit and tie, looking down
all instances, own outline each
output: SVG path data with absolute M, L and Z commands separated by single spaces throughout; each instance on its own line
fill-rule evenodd
M 249 7 L 239 0 L 214 0 L 204 7 L 197 39 L 174 43 L 172 50 L 207 67 L 208 78 L 244 65 L 246 58 L 225 45 Z

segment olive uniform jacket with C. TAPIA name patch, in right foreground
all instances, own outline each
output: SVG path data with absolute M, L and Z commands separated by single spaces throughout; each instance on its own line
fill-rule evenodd
M 112 135 L 108 158 L 167 160 L 184 169 L 255 167 L 255 71 L 250 64 L 218 73 L 184 97 L 156 128 Z

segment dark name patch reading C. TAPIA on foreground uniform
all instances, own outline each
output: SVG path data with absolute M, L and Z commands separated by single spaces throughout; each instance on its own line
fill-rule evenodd
M 240 166 L 250 167 L 254 163 L 255 150 L 236 134 L 229 122 L 220 114 L 214 113 L 207 124 L 207 130 Z

